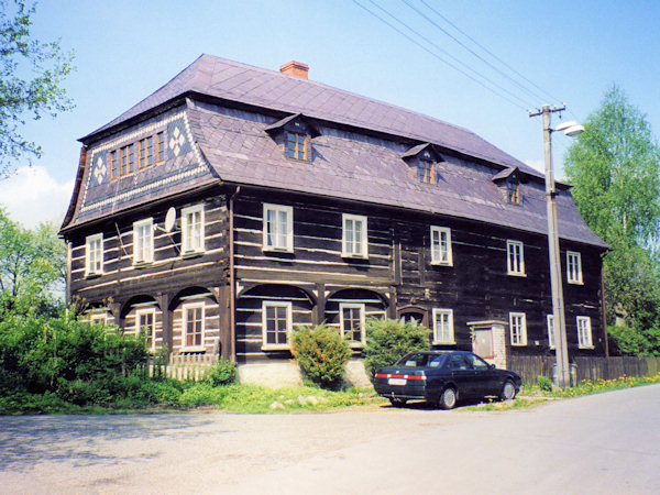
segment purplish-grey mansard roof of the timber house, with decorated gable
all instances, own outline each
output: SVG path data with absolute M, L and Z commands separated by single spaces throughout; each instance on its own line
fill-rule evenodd
M 296 119 L 315 130 L 310 160 L 304 164 L 287 160 L 276 133 L 268 132 Z M 162 129 L 168 135 L 167 160 L 110 180 L 108 151 Z M 229 183 L 547 232 L 542 174 L 476 134 L 319 82 L 209 55 L 81 141 L 88 156 L 65 230 L 146 201 Z M 405 161 L 427 146 L 443 158 L 436 164 L 439 175 L 432 185 L 420 183 Z M 493 183 L 494 176 L 514 170 L 532 178 L 521 207 L 508 205 Z M 565 187 L 559 190 L 558 210 L 562 238 L 606 246 L 586 227 Z

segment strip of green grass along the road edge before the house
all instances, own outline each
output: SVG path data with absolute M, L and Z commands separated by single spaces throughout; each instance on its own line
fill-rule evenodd
M 537 385 L 524 385 L 513 402 L 487 400 L 461 410 L 502 411 L 527 409 L 557 398 L 572 398 L 603 392 L 660 383 L 660 373 L 648 377 L 622 376 L 616 380 L 582 381 L 566 389 L 543 391 Z M 208 383 L 163 381 L 153 385 L 153 395 L 123 398 L 105 406 L 76 405 L 53 393 L 43 395 L 12 393 L 0 397 L 0 415 L 28 414 L 127 414 L 194 411 L 215 409 L 235 414 L 296 414 L 380 406 L 387 402 L 373 388 L 350 388 L 331 392 L 311 386 L 267 388 L 256 385 L 212 386 Z

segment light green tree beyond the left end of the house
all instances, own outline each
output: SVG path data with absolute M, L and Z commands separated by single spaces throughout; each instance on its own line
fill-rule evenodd
M 65 253 L 54 224 L 26 230 L 0 208 L 0 315 L 53 312 L 63 299 Z

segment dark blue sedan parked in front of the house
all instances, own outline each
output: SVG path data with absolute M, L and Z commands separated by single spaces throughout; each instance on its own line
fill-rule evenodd
M 417 399 L 451 409 L 463 399 L 513 399 L 521 383 L 518 373 L 497 370 L 472 352 L 425 351 L 380 369 L 374 388 L 394 406 Z

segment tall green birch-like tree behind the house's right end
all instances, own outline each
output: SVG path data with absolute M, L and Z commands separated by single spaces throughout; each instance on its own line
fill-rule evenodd
M 645 116 L 616 86 L 569 148 L 564 169 L 580 213 L 610 246 L 603 261 L 606 308 L 625 328 L 615 350 L 660 353 L 660 147 Z

